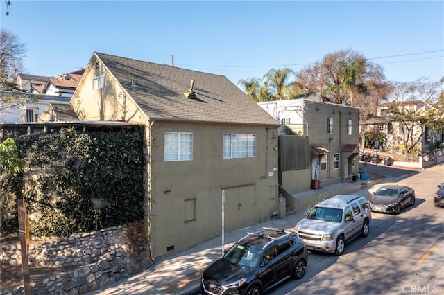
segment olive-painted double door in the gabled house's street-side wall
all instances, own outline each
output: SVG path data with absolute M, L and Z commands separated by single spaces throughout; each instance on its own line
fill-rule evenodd
M 225 232 L 254 224 L 255 186 L 238 186 L 225 190 Z

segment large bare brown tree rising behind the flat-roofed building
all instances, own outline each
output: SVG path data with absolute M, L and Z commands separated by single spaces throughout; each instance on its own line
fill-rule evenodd
M 296 81 L 325 102 L 359 107 L 361 118 L 375 114 L 379 101 L 391 91 L 382 67 L 351 49 L 328 53 L 296 73 Z

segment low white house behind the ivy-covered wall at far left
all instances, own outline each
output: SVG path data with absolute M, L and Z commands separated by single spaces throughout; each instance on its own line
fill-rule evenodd
M 44 113 L 49 105 L 69 105 L 69 98 L 60 96 L 49 96 L 49 95 L 35 95 L 32 93 L 12 93 L 10 91 L 0 91 L 0 96 L 16 96 L 17 98 L 22 98 L 26 100 L 26 96 L 37 96 L 37 102 L 35 103 L 24 103 L 23 105 L 19 102 L 14 104 L 5 104 L 0 102 L 0 122 L 3 123 L 22 123 L 22 122 L 37 122 L 40 115 Z M 74 111 L 71 109 L 71 114 Z M 77 120 L 77 119 L 76 119 Z

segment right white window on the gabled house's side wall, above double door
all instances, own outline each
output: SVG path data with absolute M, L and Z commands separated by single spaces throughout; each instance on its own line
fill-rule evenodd
M 223 134 L 223 159 L 253 158 L 255 151 L 255 134 Z

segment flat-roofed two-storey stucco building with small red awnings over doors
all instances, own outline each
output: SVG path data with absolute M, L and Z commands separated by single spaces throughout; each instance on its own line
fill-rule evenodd
M 280 186 L 298 193 L 359 174 L 359 109 L 307 99 L 259 102 L 280 127 Z M 296 136 L 286 135 L 296 134 Z

